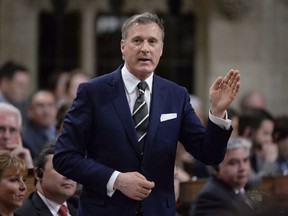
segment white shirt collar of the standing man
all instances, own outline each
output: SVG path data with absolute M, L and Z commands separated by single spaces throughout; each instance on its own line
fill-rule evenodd
M 121 74 L 126 91 L 128 92 L 128 94 L 130 94 L 134 91 L 140 80 L 135 77 L 130 71 L 128 71 L 125 65 L 121 69 Z M 154 72 L 145 80 L 148 84 L 148 90 L 150 91 L 150 93 L 152 93 L 153 74 Z

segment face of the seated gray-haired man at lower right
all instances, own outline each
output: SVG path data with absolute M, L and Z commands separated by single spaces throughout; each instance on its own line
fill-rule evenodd
M 250 173 L 250 151 L 246 148 L 228 149 L 219 165 L 218 178 L 235 189 L 243 188 Z

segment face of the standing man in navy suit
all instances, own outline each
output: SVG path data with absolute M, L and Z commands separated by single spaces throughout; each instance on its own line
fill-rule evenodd
M 132 24 L 127 38 L 121 41 L 127 69 L 138 79 L 150 76 L 158 65 L 162 51 L 162 34 L 156 23 Z

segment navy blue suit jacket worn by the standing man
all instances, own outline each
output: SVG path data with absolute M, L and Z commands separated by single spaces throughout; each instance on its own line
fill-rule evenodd
M 218 164 L 224 158 L 231 130 L 208 121 L 205 129 L 185 88 L 153 77 L 150 119 L 141 155 L 128 106 L 121 67 L 79 86 L 68 111 L 54 155 L 55 169 L 83 185 L 79 215 L 135 215 L 136 201 L 120 191 L 107 196 L 115 170 L 138 171 L 155 182 L 142 202 L 144 215 L 174 216 L 173 170 L 177 142 L 195 158 Z M 162 114 L 176 118 L 161 121 Z

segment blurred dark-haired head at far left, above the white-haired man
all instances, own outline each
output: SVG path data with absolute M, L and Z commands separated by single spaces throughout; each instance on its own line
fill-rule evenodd
M 7 102 L 18 105 L 29 94 L 30 74 L 24 66 L 9 61 L 0 68 L 0 90 Z

